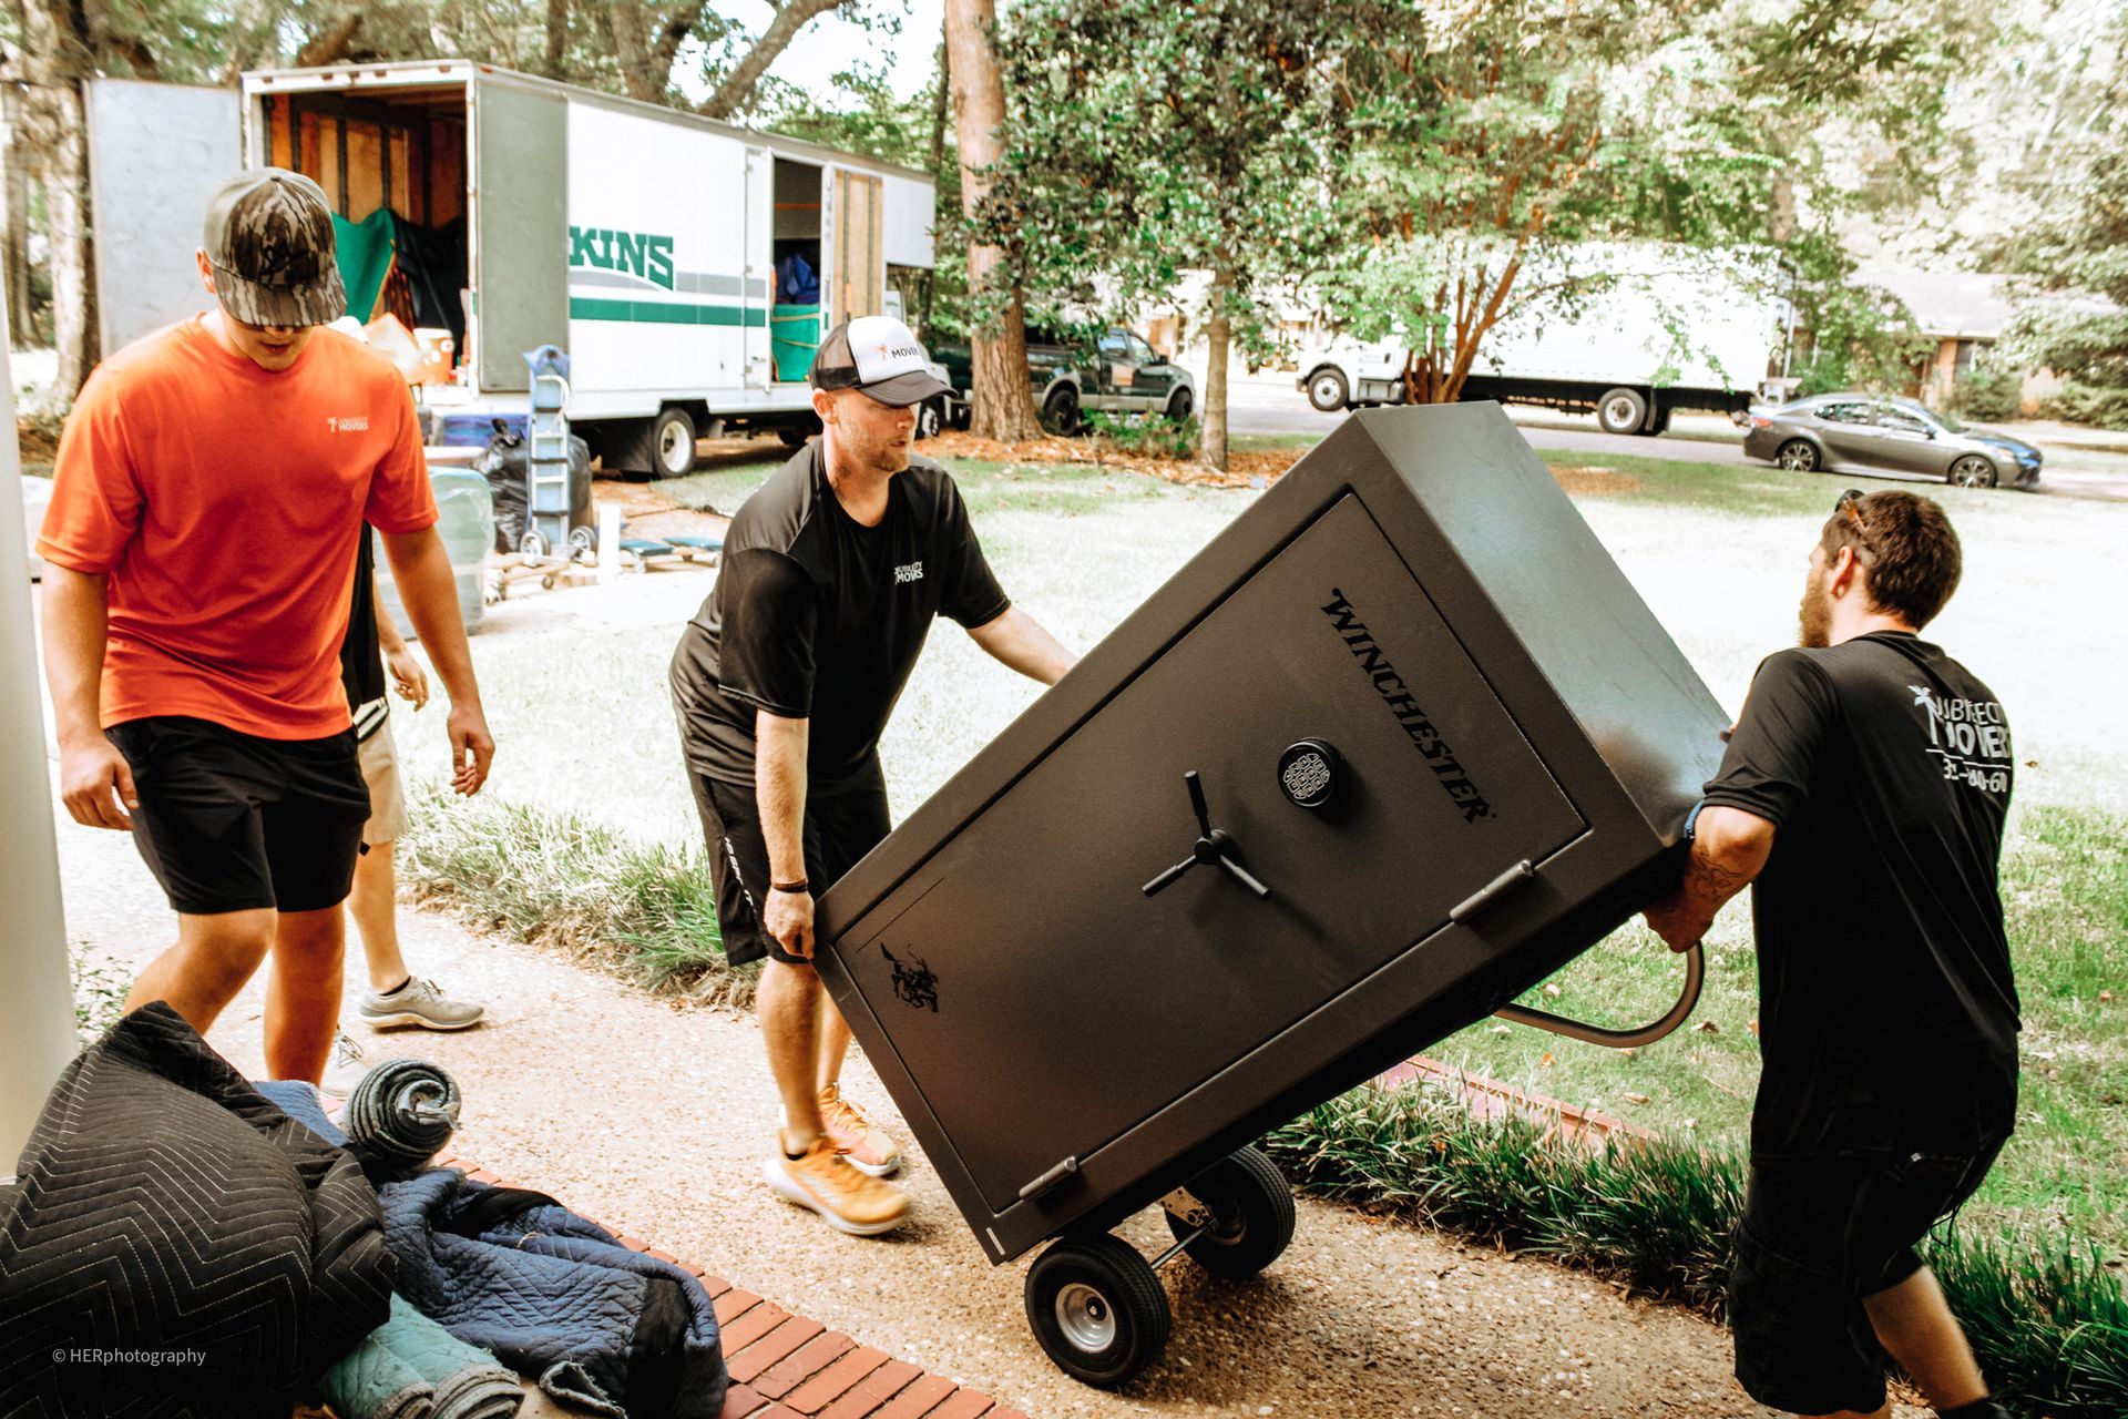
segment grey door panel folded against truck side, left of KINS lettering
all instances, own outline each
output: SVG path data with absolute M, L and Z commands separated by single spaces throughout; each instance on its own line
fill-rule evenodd
M 528 349 L 568 349 L 568 100 L 472 85 L 472 366 L 530 389 Z

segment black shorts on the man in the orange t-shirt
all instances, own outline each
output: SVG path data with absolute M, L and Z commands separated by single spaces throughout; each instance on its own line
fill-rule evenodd
M 132 766 L 134 845 L 170 906 L 321 911 L 347 898 L 370 817 L 353 730 L 283 740 L 155 715 L 104 736 Z

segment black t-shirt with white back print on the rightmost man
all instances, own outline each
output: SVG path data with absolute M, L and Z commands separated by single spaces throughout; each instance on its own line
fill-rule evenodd
M 2019 1021 L 1996 864 L 2013 768 L 1994 691 L 1911 634 L 1758 668 L 1707 785 L 1779 828 L 1751 889 L 1753 1153 L 2009 1132 Z

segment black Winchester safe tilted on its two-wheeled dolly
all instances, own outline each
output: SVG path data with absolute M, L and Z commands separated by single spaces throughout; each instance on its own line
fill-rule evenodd
M 1651 900 L 1726 723 L 1496 404 L 1360 413 L 826 894 L 819 970 L 992 1262 L 1068 1234 L 1030 1321 L 1117 1385 L 1168 1311 L 1104 1230 L 1268 1264 L 1243 1145 Z M 1641 1042 L 1696 983 L 1504 1013 Z

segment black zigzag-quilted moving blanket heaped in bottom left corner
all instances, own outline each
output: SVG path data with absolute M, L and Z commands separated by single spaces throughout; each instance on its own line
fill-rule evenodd
M 0 1187 L 0 1415 L 277 1415 L 389 1315 L 355 1162 L 149 1004 Z

